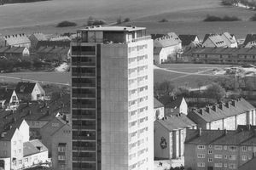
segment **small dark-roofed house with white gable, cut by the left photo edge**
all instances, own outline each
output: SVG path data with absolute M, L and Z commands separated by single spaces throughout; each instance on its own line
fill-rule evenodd
M 0 89 L 0 106 L 1 109 L 16 110 L 19 106 L 19 99 L 14 89 Z

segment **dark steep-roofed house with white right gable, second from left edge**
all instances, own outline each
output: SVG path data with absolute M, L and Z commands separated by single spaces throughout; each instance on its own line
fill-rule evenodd
M 23 101 L 44 100 L 45 91 L 38 82 L 18 82 L 15 92 Z

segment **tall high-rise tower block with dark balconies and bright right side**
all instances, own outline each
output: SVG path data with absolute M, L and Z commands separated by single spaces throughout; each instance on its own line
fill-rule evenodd
M 153 40 L 136 26 L 78 34 L 71 45 L 73 170 L 153 170 Z

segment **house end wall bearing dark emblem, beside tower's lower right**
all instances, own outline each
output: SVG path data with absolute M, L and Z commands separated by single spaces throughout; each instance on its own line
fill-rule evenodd
M 160 125 L 159 122 L 154 122 L 154 157 L 156 158 L 162 158 L 162 159 L 170 159 L 172 158 L 172 155 L 170 155 L 170 152 L 172 153 L 170 145 L 172 143 L 172 139 L 170 139 L 170 132 Z M 166 139 L 166 148 L 161 148 L 161 139 Z

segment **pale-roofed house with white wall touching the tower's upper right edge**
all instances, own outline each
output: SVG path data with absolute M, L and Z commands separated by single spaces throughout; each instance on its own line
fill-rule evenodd
M 158 36 L 154 36 L 158 37 Z M 174 32 L 154 39 L 154 64 L 162 64 L 177 59 L 182 49 L 181 40 Z

